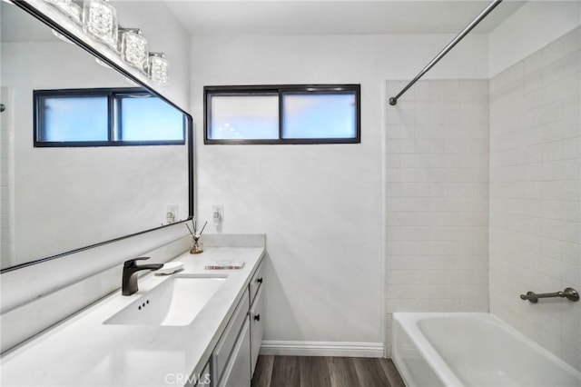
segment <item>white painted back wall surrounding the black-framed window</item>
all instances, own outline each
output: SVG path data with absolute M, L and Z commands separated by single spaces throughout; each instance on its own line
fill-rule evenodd
M 212 204 L 222 203 L 222 232 L 266 233 L 269 345 L 370 342 L 380 350 L 384 80 L 410 79 L 452 37 L 192 38 L 198 216 L 210 220 Z M 430 76 L 486 78 L 486 36 L 469 36 Z M 310 83 L 361 84 L 361 144 L 202 144 L 203 85 Z

